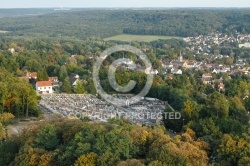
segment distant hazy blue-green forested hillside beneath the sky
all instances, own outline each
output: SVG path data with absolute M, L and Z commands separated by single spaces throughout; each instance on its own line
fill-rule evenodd
M 250 33 L 247 9 L 81 10 L 2 18 L 0 29 L 15 36 L 110 37 L 117 34 L 197 36 L 215 31 Z M 5 34 L 6 35 L 6 34 Z

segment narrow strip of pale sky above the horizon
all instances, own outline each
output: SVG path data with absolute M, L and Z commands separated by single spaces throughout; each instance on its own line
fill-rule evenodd
M 1 2 L 2 1 L 2 2 Z M 249 0 L 0 0 L 0 8 L 250 7 Z

